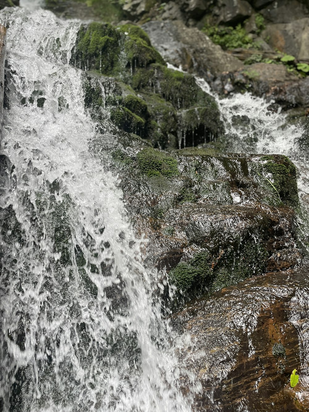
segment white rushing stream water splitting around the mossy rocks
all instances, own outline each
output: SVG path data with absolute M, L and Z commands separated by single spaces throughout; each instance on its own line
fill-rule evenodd
M 0 12 L 10 105 L 1 142 L 2 410 L 190 411 L 201 386 L 176 355 L 190 335 L 173 332 L 152 301 L 157 274 L 143 265 L 144 241 L 117 177 L 89 151 L 95 124 L 82 71 L 68 64 L 80 22 L 34 7 L 40 2 L 21 5 Z M 248 129 L 233 115 L 251 120 L 257 152 L 293 155 L 302 131 L 280 129 L 284 117 L 262 99 L 235 95 L 219 105 L 240 140 Z M 180 376 L 190 381 L 185 397 Z

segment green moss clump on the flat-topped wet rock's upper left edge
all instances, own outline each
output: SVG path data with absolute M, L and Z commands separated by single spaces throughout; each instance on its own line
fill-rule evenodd
M 150 176 L 178 176 L 177 160 L 164 152 L 147 147 L 137 154 L 138 167 Z

